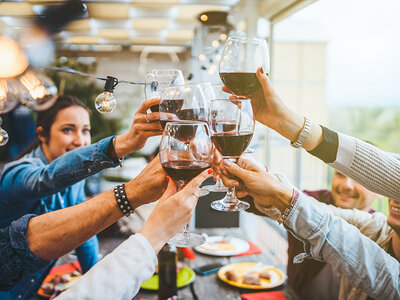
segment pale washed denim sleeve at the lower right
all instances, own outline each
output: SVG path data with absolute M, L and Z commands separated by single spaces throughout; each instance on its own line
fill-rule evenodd
M 356 227 L 302 193 L 284 223 L 306 252 L 331 264 L 355 288 L 374 299 L 400 299 L 400 264 Z

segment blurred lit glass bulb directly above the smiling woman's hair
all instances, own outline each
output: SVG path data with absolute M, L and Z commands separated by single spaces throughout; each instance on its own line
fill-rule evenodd
M 24 86 L 21 103 L 33 110 L 46 110 L 57 100 L 57 87 L 44 75 L 27 72 L 19 79 Z

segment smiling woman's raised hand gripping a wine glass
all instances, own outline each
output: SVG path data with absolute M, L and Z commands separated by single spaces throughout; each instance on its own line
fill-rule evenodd
M 159 98 L 152 98 L 142 102 L 135 113 L 129 131 L 116 137 L 115 153 L 118 157 L 123 157 L 142 149 L 149 137 L 162 134 L 160 113 L 147 113 L 151 106 L 159 104 Z

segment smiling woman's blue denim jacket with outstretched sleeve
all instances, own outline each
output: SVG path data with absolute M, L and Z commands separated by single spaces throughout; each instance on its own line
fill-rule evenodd
M 46 212 L 76 205 L 85 200 L 84 179 L 116 166 L 106 151 L 112 137 L 72 150 L 48 163 L 41 147 L 4 167 L 0 177 L 0 227 L 9 226 L 25 214 Z M 98 261 L 99 244 L 93 237 L 76 249 L 82 270 Z M 19 282 L 10 299 L 29 299 L 51 269 L 51 262 L 32 277 Z M 20 297 L 18 297 L 20 296 Z M 0 293 L 0 299 L 7 299 Z

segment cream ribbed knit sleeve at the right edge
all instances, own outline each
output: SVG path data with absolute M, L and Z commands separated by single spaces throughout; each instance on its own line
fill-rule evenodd
M 400 161 L 354 137 L 338 134 L 336 160 L 329 165 L 367 189 L 400 201 Z

